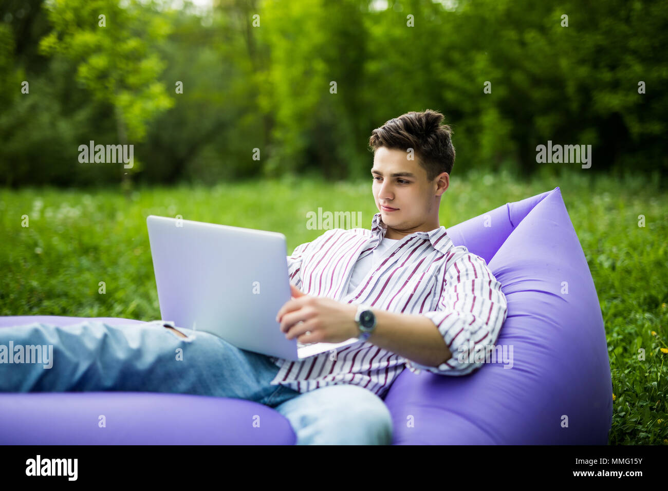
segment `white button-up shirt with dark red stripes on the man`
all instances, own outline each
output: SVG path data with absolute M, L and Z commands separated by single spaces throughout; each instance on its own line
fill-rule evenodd
M 397 240 L 374 261 L 359 285 L 348 289 L 357 261 L 373 253 L 386 231 L 377 213 L 371 230 L 335 228 L 297 246 L 287 257 L 290 283 L 307 295 L 424 315 L 438 327 L 452 358 L 438 367 L 420 365 L 359 341 L 337 348 L 336 353 L 325 351 L 300 361 L 271 357 L 281 367 L 272 385 L 287 385 L 304 393 L 351 383 L 384 398 L 404 368 L 413 373 L 424 369 L 440 375 L 467 375 L 482 366 L 468 353 L 490 352 L 506 320 L 508 304 L 484 259 L 464 246 L 455 246 L 444 226 Z

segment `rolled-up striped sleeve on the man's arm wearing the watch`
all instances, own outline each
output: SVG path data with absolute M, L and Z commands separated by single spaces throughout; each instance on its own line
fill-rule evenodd
M 442 269 L 437 309 L 420 315 L 438 327 L 452 357 L 438 367 L 406 360 L 406 367 L 413 373 L 427 370 L 439 375 L 467 375 L 482 366 L 482 361 L 474 360 L 482 353 L 487 359 L 494 348 L 508 315 L 508 302 L 481 257 L 458 252 Z

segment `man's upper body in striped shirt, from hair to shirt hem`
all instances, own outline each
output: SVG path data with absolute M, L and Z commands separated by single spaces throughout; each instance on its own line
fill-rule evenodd
M 359 335 L 364 342 L 334 357 L 273 359 L 281 369 L 271 383 L 299 393 L 357 385 L 384 398 L 405 367 L 441 375 L 480 367 L 468 363 L 469 353 L 490 351 L 507 303 L 484 259 L 454 247 L 439 226 L 455 157 L 442 120 L 432 110 L 410 112 L 373 130 L 379 213 L 371 230 L 327 230 L 288 258 L 294 298 L 277 315 L 286 337 L 336 343 Z M 365 311 L 373 319 L 367 333 L 356 321 Z

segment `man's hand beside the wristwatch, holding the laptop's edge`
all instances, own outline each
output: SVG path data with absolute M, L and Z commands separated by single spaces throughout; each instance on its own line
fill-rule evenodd
M 357 337 L 357 305 L 314 297 L 290 285 L 293 298 L 279 310 L 276 321 L 287 339 L 300 343 L 340 343 Z M 310 331 L 310 333 L 307 333 Z

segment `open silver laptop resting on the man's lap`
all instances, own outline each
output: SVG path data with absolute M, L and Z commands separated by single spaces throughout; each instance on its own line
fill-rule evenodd
M 291 299 L 285 235 L 150 215 L 160 315 L 248 351 L 299 360 L 359 342 L 285 339 L 276 314 Z

